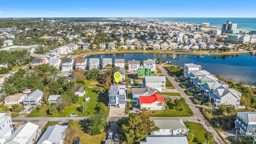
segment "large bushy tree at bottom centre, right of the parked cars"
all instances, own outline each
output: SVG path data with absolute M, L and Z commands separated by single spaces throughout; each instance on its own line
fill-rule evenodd
M 158 131 L 159 128 L 155 126 L 144 112 L 140 114 L 130 113 L 128 117 L 123 117 L 117 122 L 120 131 L 121 141 L 126 141 L 127 144 L 138 143 L 144 139 L 145 136 L 151 132 Z

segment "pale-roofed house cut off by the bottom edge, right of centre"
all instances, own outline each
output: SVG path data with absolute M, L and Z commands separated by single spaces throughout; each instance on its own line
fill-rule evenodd
M 140 144 L 188 144 L 188 139 L 183 135 L 167 135 L 154 136 L 146 135 L 145 141 L 140 141 Z

